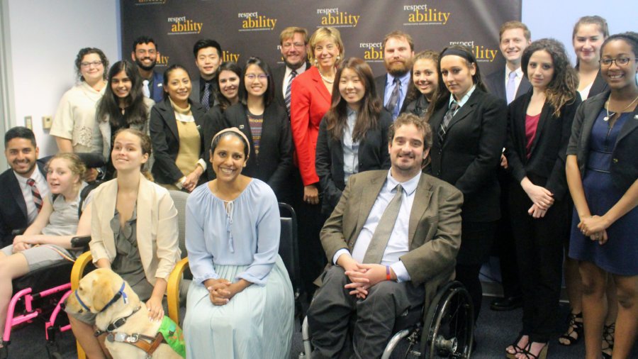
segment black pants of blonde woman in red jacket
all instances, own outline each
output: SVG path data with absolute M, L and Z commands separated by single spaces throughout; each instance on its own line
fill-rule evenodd
M 315 292 L 313 282 L 319 277 L 325 267 L 325 251 L 319 241 L 319 232 L 325 222 L 321 214 L 321 202 L 308 204 L 303 201 L 303 182 L 297 168 L 293 169 L 293 200 L 292 206 L 297 215 L 297 238 L 299 244 L 299 269 L 301 272 L 301 286 L 310 301 Z

